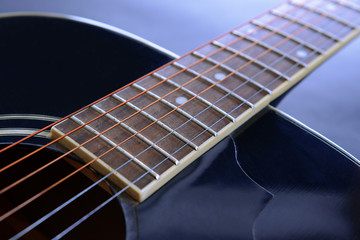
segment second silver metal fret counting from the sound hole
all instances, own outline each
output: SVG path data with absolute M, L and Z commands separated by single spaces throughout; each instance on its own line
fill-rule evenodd
M 172 161 L 175 165 L 179 164 L 179 160 L 177 160 L 174 156 L 172 156 L 171 154 L 169 154 L 168 152 L 166 152 L 164 149 L 162 149 L 161 147 L 159 147 L 158 145 L 156 145 L 154 142 L 152 142 L 151 140 L 149 140 L 147 137 L 145 137 L 144 135 L 142 135 L 141 133 L 139 133 L 138 131 L 136 131 L 135 129 L 133 129 L 132 127 L 128 126 L 127 124 L 125 124 L 124 122 L 120 121 L 119 119 L 117 119 L 116 117 L 114 117 L 113 115 L 111 115 L 110 113 L 106 113 L 103 109 L 99 108 L 96 105 L 92 105 L 91 106 L 92 109 L 94 109 L 95 111 L 97 111 L 100 114 L 104 114 L 105 117 L 109 118 L 110 120 L 112 120 L 113 122 L 115 122 L 116 124 L 121 125 L 123 128 L 125 128 L 126 130 L 128 130 L 130 133 L 136 135 L 138 138 L 140 138 L 141 140 L 143 140 L 144 142 L 146 142 L 150 147 L 154 148 L 155 150 L 157 150 L 159 153 L 161 153 L 162 155 L 164 155 L 167 159 L 170 159 L 170 161 Z

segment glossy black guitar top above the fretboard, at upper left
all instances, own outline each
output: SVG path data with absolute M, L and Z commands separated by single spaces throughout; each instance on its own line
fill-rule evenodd
M 172 59 L 118 32 L 68 18 L 3 17 L 0 32 L 0 115 L 65 117 Z M 0 119 L 0 128 L 49 123 Z M 0 143 L 16 139 L 0 135 Z

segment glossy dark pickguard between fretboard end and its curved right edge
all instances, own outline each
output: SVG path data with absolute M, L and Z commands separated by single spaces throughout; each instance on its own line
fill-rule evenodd
M 137 207 L 140 239 L 250 239 L 270 198 L 227 138 Z

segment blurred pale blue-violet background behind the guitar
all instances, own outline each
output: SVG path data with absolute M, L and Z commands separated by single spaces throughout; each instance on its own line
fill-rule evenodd
M 0 12 L 50 12 L 90 18 L 182 55 L 280 2 L 1 0 Z M 278 106 L 357 158 L 360 158 L 359 55 L 358 38 L 322 64 Z

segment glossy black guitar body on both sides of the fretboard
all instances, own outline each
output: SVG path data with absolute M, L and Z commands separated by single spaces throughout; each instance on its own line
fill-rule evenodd
M 69 19 L 2 18 L 0 31 L 2 146 L 52 120 L 38 115 L 63 117 L 172 59 L 129 36 Z M 36 138 L 10 152 L 6 161 L 47 141 Z M 43 157 L 59 154 L 59 150 L 49 149 Z M 4 158 L 0 160 L 5 165 Z M 61 164 L 58 169 L 62 171 L 72 169 L 67 162 Z M 33 165 L 28 163 L 23 169 L 35 168 Z M 51 175 L 57 171 L 52 169 Z M 2 177 L 1 188 L 16 173 L 14 170 Z M 81 183 L 82 189 L 87 181 L 79 176 L 72 183 Z M 41 182 L 39 179 L 34 184 Z M 360 239 L 359 186 L 360 169 L 355 159 L 268 109 L 250 127 L 226 138 L 144 203 L 138 205 L 122 196 L 67 237 Z M 59 189 L 64 201 L 79 191 L 70 187 L 75 190 Z M 0 201 L 9 203 L 16 194 L 2 196 Z M 88 199 L 100 198 L 101 203 L 107 197 L 109 194 L 99 188 Z M 42 211 L 35 206 L 32 213 L 36 216 L 27 218 L 34 221 L 46 214 Z M 72 219 L 75 212 L 70 209 L 58 218 L 59 229 L 41 225 L 39 230 L 52 237 L 81 214 L 86 212 Z M 0 225 L 1 238 L 12 236 L 4 226 Z

